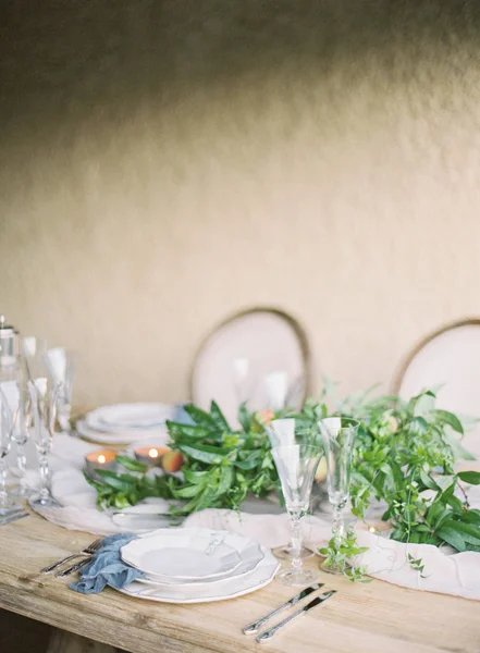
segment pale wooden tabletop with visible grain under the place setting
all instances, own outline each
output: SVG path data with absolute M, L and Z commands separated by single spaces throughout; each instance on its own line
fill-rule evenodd
M 93 539 L 37 515 L 1 527 L 0 608 L 133 653 L 480 652 L 480 602 L 378 580 L 350 583 L 322 574 L 325 586 L 339 593 L 263 646 L 241 628 L 295 593 L 275 581 L 239 599 L 182 606 L 140 601 L 110 589 L 85 596 L 69 590 L 67 579 L 38 572 Z

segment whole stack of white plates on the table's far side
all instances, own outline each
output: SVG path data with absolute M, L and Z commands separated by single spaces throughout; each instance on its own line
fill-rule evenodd
M 76 422 L 82 438 L 99 444 L 132 444 L 164 439 L 165 421 L 174 419 L 176 406 L 165 404 L 115 404 L 87 412 Z

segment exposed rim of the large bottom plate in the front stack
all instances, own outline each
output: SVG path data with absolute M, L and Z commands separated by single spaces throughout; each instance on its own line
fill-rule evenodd
M 146 599 L 147 601 L 158 601 L 160 603 L 208 603 L 212 601 L 225 601 L 235 599 L 250 592 L 255 592 L 268 586 L 274 578 L 280 563 L 272 553 L 261 546 L 263 559 L 260 564 L 245 576 L 235 578 L 225 578 L 212 582 L 209 586 L 198 583 L 198 587 L 182 588 L 179 587 L 157 587 L 145 589 L 145 584 L 135 581 L 127 588 L 119 590 L 128 596 Z

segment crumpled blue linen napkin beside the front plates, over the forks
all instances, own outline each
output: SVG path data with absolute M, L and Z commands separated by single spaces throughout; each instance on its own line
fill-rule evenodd
M 118 590 L 137 578 L 145 578 L 145 574 L 131 567 L 120 557 L 121 547 L 136 538 L 137 535 L 132 533 L 118 533 L 104 538 L 91 563 L 81 569 L 78 582 L 72 583 L 70 589 L 82 594 L 98 594 L 107 586 Z

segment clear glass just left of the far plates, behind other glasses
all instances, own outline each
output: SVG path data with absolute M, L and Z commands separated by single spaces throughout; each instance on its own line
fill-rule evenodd
M 76 369 L 76 355 L 64 347 L 47 349 L 47 368 L 50 380 L 58 387 L 57 419 L 62 431 L 72 432 L 72 389 Z

